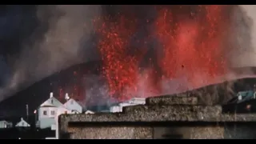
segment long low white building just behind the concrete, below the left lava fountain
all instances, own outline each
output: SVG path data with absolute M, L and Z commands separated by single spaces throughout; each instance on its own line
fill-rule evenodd
M 122 112 L 122 108 L 125 106 L 136 106 L 136 105 L 145 105 L 145 98 L 131 98 L 129 101 L 118 103 L 118 105 L 110 107 L 110 113 Z

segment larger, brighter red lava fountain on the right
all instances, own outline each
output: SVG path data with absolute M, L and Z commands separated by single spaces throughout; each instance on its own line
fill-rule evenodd
M 198 6 L 201 12 L 190 12 L 190 18 L 178 18 L 183 15 L 174 15 L 170 10 L 160 11 L 156 33 L 162 43 L 163 54 L 158 60 L 164 78 L 185 76 L 190 86 L 198 87 L 225 74 L 225 9 L 226 6 Z

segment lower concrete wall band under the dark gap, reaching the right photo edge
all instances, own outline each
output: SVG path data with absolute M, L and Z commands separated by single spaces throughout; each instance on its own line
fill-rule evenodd
M 69 127 L 70 139 L 255 139 L 254 124 Z

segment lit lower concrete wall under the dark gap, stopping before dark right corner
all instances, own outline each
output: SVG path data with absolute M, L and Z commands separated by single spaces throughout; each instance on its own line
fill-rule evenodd
M 223 126 L 86 126 L 70 127 L 71 139 L 222 139 Z

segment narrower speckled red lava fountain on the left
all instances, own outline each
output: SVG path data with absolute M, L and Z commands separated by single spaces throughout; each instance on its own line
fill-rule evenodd
M 129 95 L 126 88 L 137 90 L 138 57 L 129 54 L 134 23 L 121 16 L 118 22 L 104 22 L 99 30 L 102 34 L 99 43 L 104 64 L 102 69 L 109 84 L 110 95 L 118 95 L 118 98 Z

